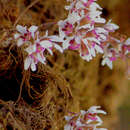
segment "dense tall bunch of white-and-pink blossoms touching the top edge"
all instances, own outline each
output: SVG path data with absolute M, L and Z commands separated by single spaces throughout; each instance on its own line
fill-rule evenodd
M 71 1 L 68 18 L 59 21 L 59 35 L 64 39 L 63 49 L 79 51 L 80 56 L 90 61 L 96 53 L 103 53 L 101 42 L 106 40 L 107 30 L 94 27 L 95 23 L 104 23 L 100 18 L 101 7 L 95 0 Z

